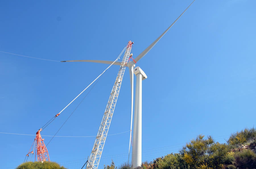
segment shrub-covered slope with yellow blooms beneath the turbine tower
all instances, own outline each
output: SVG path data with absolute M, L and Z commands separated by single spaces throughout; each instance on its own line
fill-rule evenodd
M 256 130 L 247 129 L 231 134 L 227 143 L 215 142 L 212 137 L 197 136 L 179 153 L 171 153 L 151 162 L 143 162 L 138 169 L 215 169 L 256 168 Z M 114 162 L 105 169 L 114 169 Z M 122 164 L 118 168 L 131 168 Z

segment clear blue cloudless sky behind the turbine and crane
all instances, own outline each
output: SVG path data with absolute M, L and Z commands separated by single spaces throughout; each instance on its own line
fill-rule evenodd
M 2 1 L 0 50 L 50 60 L 114 60 L 129 40 L 136 57 L 192 0 Z M 256 1 L 196 0 L 142 58 L 142 160 L 178 152 L 199 134 L 224 143 L 255 125 Z M 108 65 L 61 63 L 0 52 L 0 132 L 35 134 Z M 57 136 L 95 136 L 119 66 L 98 81 Z M 42 135 L 54 135 L 87 90 Z M 130 128 L 126 70 L 109 134 Z M 0 168 L 23 162 L 34 136 L 0 134 Z M 48 143 L 51 137 L 45 138 Z M 53 138 L 51 161 L 80 168 L 95 138 Z M 100 167 L 127 161 L 129 132 L 108 136 Z

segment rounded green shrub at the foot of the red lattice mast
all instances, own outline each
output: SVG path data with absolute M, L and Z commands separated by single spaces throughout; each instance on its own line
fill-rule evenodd
M 66 169 L 63 166 L 60 166 L 56 162 L 24 162 L 20 164 L 16 169 Z

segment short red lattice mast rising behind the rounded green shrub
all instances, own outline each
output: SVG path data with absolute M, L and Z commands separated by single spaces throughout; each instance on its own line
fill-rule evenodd
M 35 138 L 32 146 L 36 145 L 36 156 L 37 156 L 38 161 L 41 161 L 41 162 L 50 161 L 48 150 L 46 148 L 46 145 L 44 144 L 44 139 L 41 137 L 40 131 L 42 131 L 42 128 L 40 128 L 36 132 L 36 138 Z M 32 146 L 31 146 L 31 148 L 32 148 Z M 30 151 L 26 156 L 28 157 L 29 154 L 34 154 L 34 148 L 33 148 L 33 151 Z M 35 161 L 36 161 L 36 157 L 35 157 Z

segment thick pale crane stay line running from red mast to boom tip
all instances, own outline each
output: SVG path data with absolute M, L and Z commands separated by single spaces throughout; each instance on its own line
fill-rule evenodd
M 125 51 L 125 48 L 127 46 L 125 46 L 122 50 L 122 52 L 119 54 L 119 56 L 116 58 L 115 61 L 113 61 L 113 63 L 110 65 L 112 66 L 118 59 L 120 59 L 120 56 L 123 54 L 123 52 Z M 103 73 L 105 73 L 110 66 L 108 66 L 96 79 L 94 79 L 94 81 L 92 81 L 92 83 L 94 83 L 101 75 L 103 75 Z M 51 118 L 51 120 L 49 120 L 46 124 L 44 124 L 44 126 L 42 127 L 42 130 L 44 130 L 51 122 L 53 122 L 53 120 L 55 119 L 55 117 L 58 117 L 60 115 L 60 113 L 62 111 L 64 111 L 72 102 L 74 102 L 88 87 L 90 87 L 92 85 L 92 83 L 90 83 L 79 95 L 77 95 L 77 97 L 75 97 L 64 109 L 62 109 L 59 113 L 57 113 L 54 117 Z M 41 130 L 41 131 L 42 131 Z

